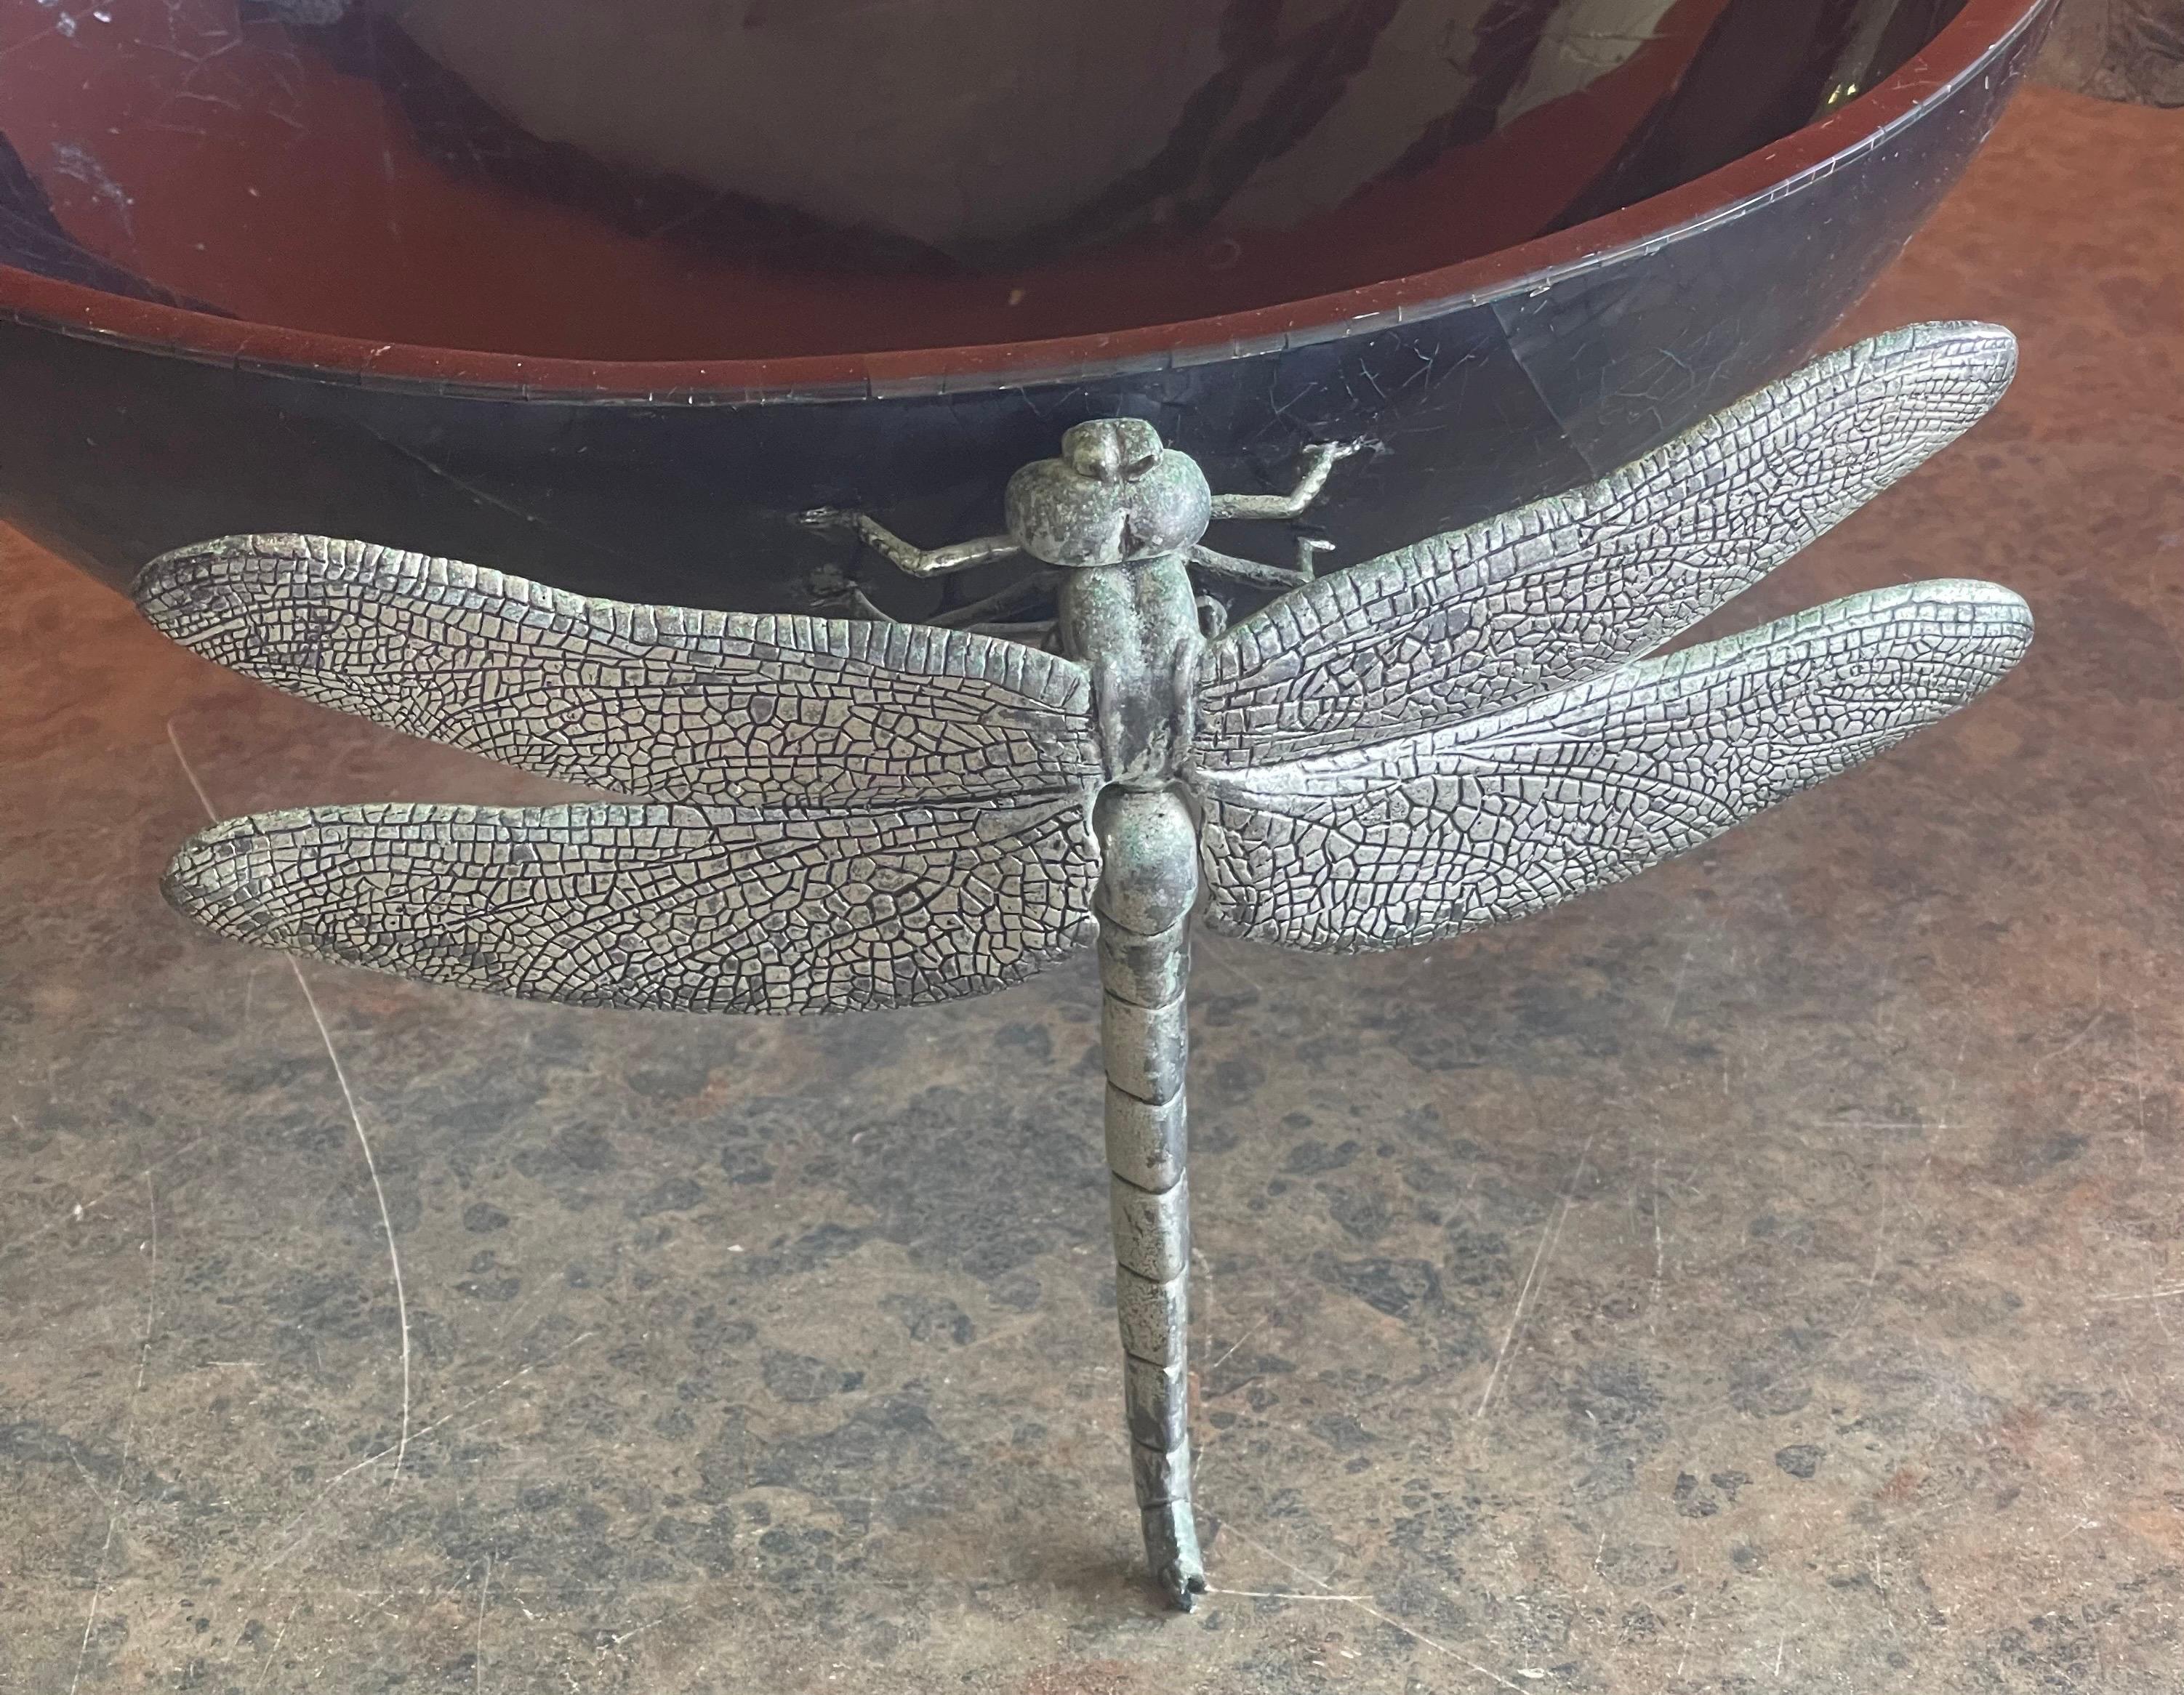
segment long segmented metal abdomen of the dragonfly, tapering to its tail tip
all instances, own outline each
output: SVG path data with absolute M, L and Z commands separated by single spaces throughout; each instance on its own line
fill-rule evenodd
M 1206 1592 L 1190 1514 L 1190 1184 L 1186 979 L 1197 826 L 1168 791 L 1107 789 L 1101 839 L 1101 1048 L 1123 1398 L 1144 1557 L 1184 1612 Z

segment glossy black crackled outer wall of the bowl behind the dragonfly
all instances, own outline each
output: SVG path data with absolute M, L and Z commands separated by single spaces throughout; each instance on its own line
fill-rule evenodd
M 1262 339 L 1044 374 L 557 393 L 308 365 L 247 336 L 153 345 L 17 299 L 0 319 L 0 511 L 116 585 L 188 542 L 317 531 L 577 592 L 802 612 L 858 561 L 799 511 L 865 507 L 926 546 L 992 533 L 1018 465 L 1129 413 L 1216 489 L 1278 487 L 1313 441 L 1376 441 L 1313 513 L 1341 566 L 1590 481 L 1791 369 L 1992 129 L 2051 7 L 2009 13 L 1854 146 L 1771 186 L 1771 155 L 1795 149 L 1762 151 L 1717 173 L 1741 192 L 1658 234 L 1647 203 L 1586 227 L 1603 251 L 1457 299 L 1332 325 L 1306 304 Z M 902 616 L 987 585 L 860 574 Z

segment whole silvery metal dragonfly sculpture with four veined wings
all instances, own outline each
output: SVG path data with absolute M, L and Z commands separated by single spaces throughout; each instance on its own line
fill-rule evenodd
M 1068 430 L 983 542 L 810 515 L 919 574 L 1029 555 L 1051 631 L 625 605 L 304 535 L 183 548 L 138 583 L 175 640 L 640 799 L 229 819 L 168 898 L 242 941 L 585 1007 L 900 1007 L 1094 944 L 1136 1490 L 1188 1608 L 1190 926 L 1339 952 L 1520 917 L 1981 695 L 2031 640 L 1992 583 L 1640 655 L 1970 428 L 2014 360 L 2005 330 L 1900 330 L 1592 487 L 1326 577 L 1201 535 L 1295 518 L 1339 450 L 1289 496 L 1214 496 L 1136 419 Z M 1225 629 L 1195 572 L 1289 592 Z

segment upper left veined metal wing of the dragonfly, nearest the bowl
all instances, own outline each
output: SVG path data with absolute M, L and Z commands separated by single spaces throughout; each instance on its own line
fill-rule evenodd
M 583 598 L 319 535 L 181 548 L 135 596 L 290 695 L 644 799 L 858 808 L 1101 773 L 1085 671 L 970 631 Z

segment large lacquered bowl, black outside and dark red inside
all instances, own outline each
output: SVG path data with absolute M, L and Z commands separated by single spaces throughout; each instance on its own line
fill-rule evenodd
M 1341 564 L 1795 365 L 2053 0 L 498 4 L 0 0 L 11 522 L 111 583 L 295 529 L 806 609 L 850 548 L 799 511 L 989 533 L 1133 413 L 1230 489 L 1378 441 L 1313 513 Z M 946 122 L 841 72 L 882 22 Z

